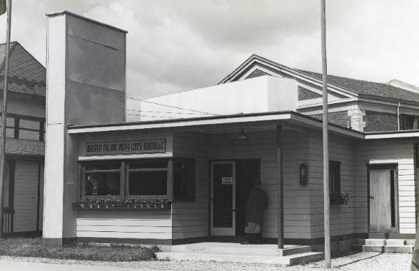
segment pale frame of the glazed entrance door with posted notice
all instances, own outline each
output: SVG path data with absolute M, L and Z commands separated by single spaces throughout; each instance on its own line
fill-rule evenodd
M 232 217 L 233 217 L 233 226 L 231 227 L 231 228 L 217 228 L 217 231 L 221 231 L 221 232 L 225 232 L 225 233 L 222 233 L 222 234 L 219 234 L 219 233 L 217 233 L 217 234 L 214 234 L 214 235 L 216 235 L 216 236 L 235 236 L 235 163 L 236 163 L 236 161 L 235 160 L 223 160 L 223 161 L 210 161 L 210 214 L 209 214 L 209 216 L 210 216 L 210 224 L 208 225 L 209 226 L 209 228 L 210 228 L 210 235 L 213 235 L 213 233 L 214 233 L 214 227 L 213 227 L 213 224 L 212 224 L 212 222 L 213 222 L 213 219 L 214 219 L 214 212 L 213 212 L 213 210 L 214 210 L 214 207 L 213 207 L 213 204 L 214 204 L 214 190 L 213 190 L 213 179 L 214 179 L 214 174 L 213 174 L 213 172 L 214 172 L 214 164 L 232 164 L 233 165 L 233 172 L 232 172 L 232 175 L 233 175 L 233 187 L 232 187 L 232 193 L 233 193 L 233 195 L 232 195 L 232 201 L 233 201 L 233 211 L 232 211 Z

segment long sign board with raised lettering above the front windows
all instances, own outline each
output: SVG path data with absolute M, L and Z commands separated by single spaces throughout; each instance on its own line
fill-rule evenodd
M 85 152 L 86 155 L 166 153 L 166 139 L 87 142 Z

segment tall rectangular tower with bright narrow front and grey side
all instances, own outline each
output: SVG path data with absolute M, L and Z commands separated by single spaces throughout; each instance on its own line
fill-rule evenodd
M 68 11 L 47 14 L 47 244 L 75 237 L 78 137 L 68 125 L 126 121 L 126 33 Z

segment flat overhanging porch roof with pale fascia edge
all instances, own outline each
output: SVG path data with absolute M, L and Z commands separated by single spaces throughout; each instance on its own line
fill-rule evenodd
M 177 118 L 159 121 L 139 121 L 129 123 L 105 123 L 97 125 L 68 125 L 69 134 L 93 132 L 116 132 L 176 127 L 207 127 L 219 125 L 297 125 L 300 127 L 322 128 L 322 121 L 295 111 L 274 111 L 251 114 L 205 116 L 198 118 Z M 329 131 L 355 139 L 364 139 L 364 133 L 329 123 Z

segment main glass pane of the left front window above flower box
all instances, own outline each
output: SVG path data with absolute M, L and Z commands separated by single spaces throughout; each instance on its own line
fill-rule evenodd
M 118 172 L 91 172 L 84 174 L 86 196 L 118 196 L 121 175 Z

